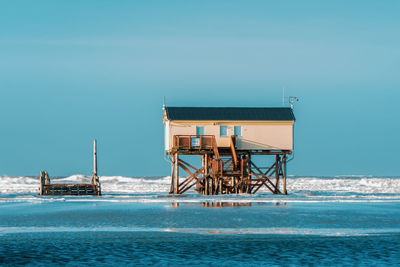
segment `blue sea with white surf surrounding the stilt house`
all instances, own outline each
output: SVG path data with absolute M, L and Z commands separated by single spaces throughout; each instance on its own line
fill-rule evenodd
M 170 177 L 100 181 L 100 197 L 39 196 L 38 177 L 0 176 L 0 265 L 400 265 L 400 177 L 290 176 L 288 195 L 217 196 L 169 195 Z

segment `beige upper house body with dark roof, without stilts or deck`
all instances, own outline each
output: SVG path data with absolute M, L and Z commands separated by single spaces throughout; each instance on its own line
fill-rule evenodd
M 214 136 L 220 148 L 235 136 L 237 150 L 293 150 L 291 108 L 165 107 L 165 151 L 176 136 Z

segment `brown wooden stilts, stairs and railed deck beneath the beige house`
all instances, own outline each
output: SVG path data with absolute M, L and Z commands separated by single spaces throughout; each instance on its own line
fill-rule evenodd
M 196 140 L 194 140 L 196 139 Z M 195 187 L 203 195 L 254 194 L 262 187 L 273 194 L 287 194 L 288 150 L 236 150 L 235 136 L 230 137 L 230 147 L 217 147 L 214 136 L 174 136 L 171 157 L 170 194 L 183 194 Z M 201 156 L 201 167 L 196 168 L 184 161 L 185 155 Z M 257 166 L 255 156 L 274 157 L 270 166 Z M 179 179 L 182 169 L 187 177 Z

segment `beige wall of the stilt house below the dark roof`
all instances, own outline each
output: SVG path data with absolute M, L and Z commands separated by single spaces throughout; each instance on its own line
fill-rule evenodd
M 219 126 L 228 126 L 228 136 L 219 136 Z M 229 137 L 234 134 L 234 126 L 242 126 L 242 136 L 237 137 L 237 149 L 254 150 L 292 150 L 293 122 L 292 121 L 263 121 L 263 122 L 175 122 L 165 124 L 165 149 L 173 145 L 174 135 L 195 135 L 196 126 L 204 126 L 205 135 L 214 135 L 220 147 L 229 147 Z M 168 134 L 169 133 L 169 134 Z

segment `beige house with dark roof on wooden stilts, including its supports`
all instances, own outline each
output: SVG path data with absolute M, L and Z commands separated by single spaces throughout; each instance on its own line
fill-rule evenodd
M 273 194 L 287 194 L 292 108 L 164 107 L 163 121 L 170 194 L 193 187 L 204 195 L 253 194 L 263 186 Z M 183 160 L 189 155 L 201 157 L 200 168 Z M 266 157 L 272 165 L 256 165 Z M 179 179 L 180 170 L 187 177 Z

